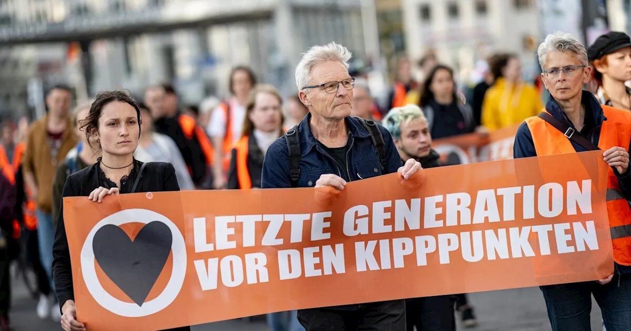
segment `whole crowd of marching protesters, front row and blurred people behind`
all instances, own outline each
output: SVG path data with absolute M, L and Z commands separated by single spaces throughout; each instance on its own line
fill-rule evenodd
M 350 52 L 335 43 L 304 54 L 296 68 L 298 93 L 286 100 L 244 66 L 230 73 L 229 98 L 186 109 L 170 84 L 150 86 L 142 102 L 126 91 L 102 91 L 72 111 L 71 89 L 54 86 L 44 117 L 2 124 L 0 330 L 10 330 L 8 270 L 16 240 L 28 242 L 37 274 L 37 316 L 61 321 L 67 331 L 86 330 L 76 320 L 63 197 L 98 203 L 131 192 L 343 190 L 387 173 L 414 183 L 421 168 L 441 166 L 432 139 L 517 124 L 515 158 L 602 149 L 610 189 L 618 192 L 607 202 L 615 273 L 598 282 L 542 286 L 553 330 L 589 330 L 592 295 L 607 330 L 631 330 L 631 39 L 610 32 L 586 49 L 555 33 L 538 56 L 550 92 L 545 105 L 541 91 L 522 79 L 514 54 L 492 55 L 468 91 L 458 88 L 451 67 L 428 54 L 420 61 L 421 82 L 409 59 L 399 61 L 382 111 L 367 81 L 350 75 Z M 273 331 L 442 331 L 456 329 L 456 312 L 465 327 L 476 325 L 466 294 L 267 318 Z

